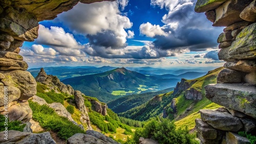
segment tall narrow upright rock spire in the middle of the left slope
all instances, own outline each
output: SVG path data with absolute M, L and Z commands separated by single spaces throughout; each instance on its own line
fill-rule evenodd
M 84 98 L 82 97 L 82 92 L 79 90 L 75 90 L 74 96 L 75 96 L 76 106 L 81 112 L 80 121 L 83 122 L 84 124 L 87 124 L 88 130 L 92 130 L 90 117 L 88 115 L 86 105 L 84 105 Z

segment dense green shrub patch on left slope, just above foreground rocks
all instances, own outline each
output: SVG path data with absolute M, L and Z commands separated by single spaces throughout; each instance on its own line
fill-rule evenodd
M 76 133 L 85 133 L 80 127 L 74 125 L 68 118 L 59 116 L 54 109 L 47 105 L 29 101 L 29 106 L 33 111 L 33 119 L 39 123 L 42 128 L 54 131 L 61 139 L 68 139 Z

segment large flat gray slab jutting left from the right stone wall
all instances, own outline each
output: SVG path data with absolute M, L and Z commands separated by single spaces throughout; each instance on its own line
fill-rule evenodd
M 256 118 L 256 87 L 245 84 L 210 84 L 205 86 L 205 97 L 229 109 Z

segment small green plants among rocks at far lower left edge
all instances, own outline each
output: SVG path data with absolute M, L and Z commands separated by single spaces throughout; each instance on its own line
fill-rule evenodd
M 26 124 L 22 124 L 20 121 L 9 121 L 8 119 L 8 125 L 5 126 L 5 117 L 4 115 L 0 114 L 0 131 L 4 131 L 5 127 L 8 127 L 8 130 L 15 130 L 15 131 L 23 131 L 25 128 Z

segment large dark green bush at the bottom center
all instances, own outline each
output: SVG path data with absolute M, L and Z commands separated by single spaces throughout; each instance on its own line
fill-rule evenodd
M 189 134 L 188 129 L 176 129 L 174 122 L 169 119 L 153 118 L 143 128 L 135 131 L 133 139 L 127 140 L 126 144 L 138 143 L 139 138 L 153 138 L 160 144 L 164 143 L 199 143 L 195 140 L 195 134 Z

